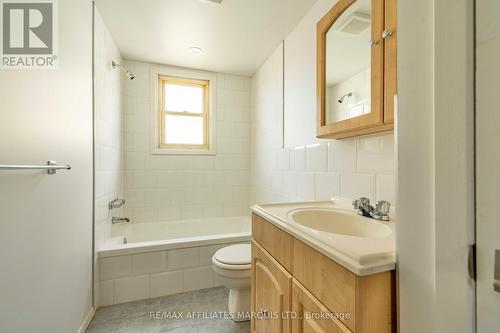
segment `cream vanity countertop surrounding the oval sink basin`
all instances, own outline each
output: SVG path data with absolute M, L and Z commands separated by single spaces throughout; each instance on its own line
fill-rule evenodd
M 359 276 L 390 271 L 396 267 L 396 226 L 393 220 L 382 222 L 367 217 L 367 223 L 381 223 L 392 229 L 383 237 L 357 237 L 307 228 L 294 222 L 290 214 L 300 209 L 335 209 L 356 212 L 346 201 L 316 201 L 254 205 L 252 211 L 273 225 L 301 240 Z

